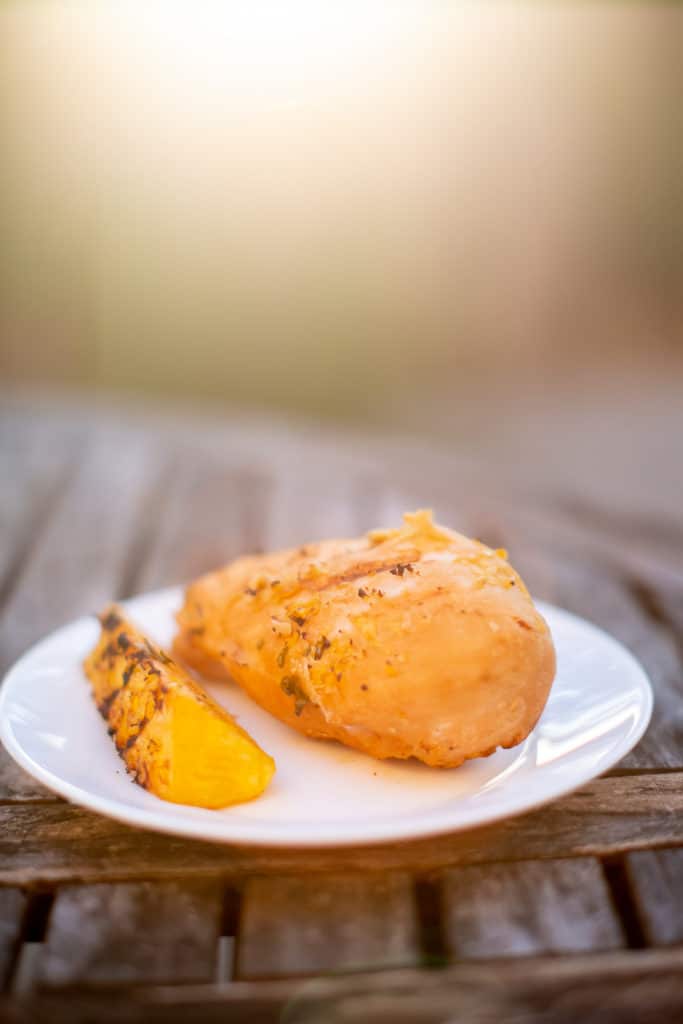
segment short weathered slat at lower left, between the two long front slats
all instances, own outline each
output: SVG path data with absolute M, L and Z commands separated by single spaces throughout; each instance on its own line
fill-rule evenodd
M 211 981 L 221 911 L 215 882 L 66 887 L 50 915 L 41 983 Z

